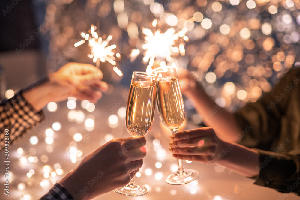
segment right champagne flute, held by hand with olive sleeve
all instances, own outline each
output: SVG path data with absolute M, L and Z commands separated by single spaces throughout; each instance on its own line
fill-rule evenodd
M 156 79 L 156 96 L 159 118 L 164 126 L 177 133 L 184 121 L 184 106 L 177 77 L 176 67 L 163 66 L 154 69 Z M 168 184 L 181 185 L 196 180 L 199 173 L 193 169 L 184 169 L 180 159 L 177 172 L 169 172 L 164 180 Z

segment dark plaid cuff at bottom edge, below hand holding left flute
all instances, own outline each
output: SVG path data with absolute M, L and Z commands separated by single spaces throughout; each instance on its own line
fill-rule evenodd
M 73 197 L 62 185 L 56 183 L 40 200 L 47 199 L 73 200 Z

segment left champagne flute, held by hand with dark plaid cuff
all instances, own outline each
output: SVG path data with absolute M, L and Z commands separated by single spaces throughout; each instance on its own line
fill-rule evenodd
M 156 76 L 146 72 L 134 72 L 126 108 L 126 128 L 131 136 L 145 136 L 151 129 L 155 112 Z M 114 190 L 126 196 L 142 196 L 148 193 L 143 185 L 137 185 L 134 178 L 124 187 Z

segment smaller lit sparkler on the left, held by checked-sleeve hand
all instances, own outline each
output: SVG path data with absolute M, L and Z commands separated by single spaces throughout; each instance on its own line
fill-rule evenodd
M 109 35 L 106 40 L 102 40 L 102 37 L 99 37 L 97 32 L 95 32 L 95 27 L 93 24 L 91 25 L 90 30 L 91 35 L 82 32 L 81 36 L 84 38 L 84 40 L 80 40 L 79 42 L 75 43 L 74 46 L 80 46 L 85 43 L 85 41 L 88 41 L 88 44 L 91 48 L 91 54 L 88 54 L 88 57 L 93 59 L 93 62 L 96 63 L 96 67 L 100 67 L 100 61 L 108 61 L 110 64 L 114 65 L 113 70 L 119 76 L 123 76 L 122 72 L 115 66 L 116 58 L 114 57 L 115 54 L 113 52 L 113 49 L 115 49 L 117 45 L 113 44 L 107 46 L 113 37 Z

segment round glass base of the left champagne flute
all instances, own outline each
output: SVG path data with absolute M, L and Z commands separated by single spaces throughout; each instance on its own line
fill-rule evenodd
M 125 196 L 143 196 L 148 193 L 148 189 L 143 185 L 127 184 L 114 190 L 118 194 Z

